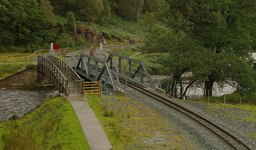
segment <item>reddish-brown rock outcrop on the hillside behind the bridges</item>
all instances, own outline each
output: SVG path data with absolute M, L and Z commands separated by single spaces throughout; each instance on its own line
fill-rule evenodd
M 107 44 L 102 34 L 99 31 L 94 31 L 88 26 L 80 25 L 76 27 L 76 33 L 85 37 L 88 41 L 92 43 L 103 43 Z

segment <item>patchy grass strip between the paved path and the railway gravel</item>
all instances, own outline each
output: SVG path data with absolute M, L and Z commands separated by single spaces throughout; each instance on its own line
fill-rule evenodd
M 117 96 L 115 112 L 113 96 L 108 102 L 97 96 L 88 96 L 88 103 L 100 121 L 113 149 L 196 149 L 189 137 L 184 137 L 174 125 L 170 125 L 155 110 L 141 105 L 138 101 Z M 110 102 L 111 101 L 111 108 Z M 123 115 L 124 110 L 124 115 Z M 124 122 L 123 122 L 124 119 Z M 136 147 L 136 120 L 138 123 L 138 146 Z M 124 127 L 123 127 L 124 123 Z

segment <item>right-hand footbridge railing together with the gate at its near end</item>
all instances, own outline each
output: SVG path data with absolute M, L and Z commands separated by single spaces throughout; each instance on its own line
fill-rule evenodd
M 69 80 L 69 87 L 70 91 L 69 93 L 78 93 L 82 92 L 82 82 L 83 80 L 81 77 L 74 71 L 72 68 L 70 68 L 66 63 L 64 63 L 62 60 L 53 57 L 53 56 L 48 56 L 48 59 L 52 61 L 52 63 L 60 68 L 71 80 Z

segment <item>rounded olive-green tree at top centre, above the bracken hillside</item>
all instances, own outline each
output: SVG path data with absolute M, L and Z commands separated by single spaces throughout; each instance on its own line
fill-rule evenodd
M 144 0 L 118 0 L 117 14 L 138 22 Z

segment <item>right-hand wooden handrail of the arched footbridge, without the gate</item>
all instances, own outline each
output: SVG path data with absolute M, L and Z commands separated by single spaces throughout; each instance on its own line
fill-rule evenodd
M 74 82 L 77 89 L 82 92 L 82 84 L 83 79 L 74 71 L 71 67 L 69 67 L 65 62 L 60 60 L 59 58 L 56 58 L 54 56 L 47 56 L 49 60 L 52 61 L 54 65 L 56 65 L 58 68 L 60 68 L 72 81 Z

